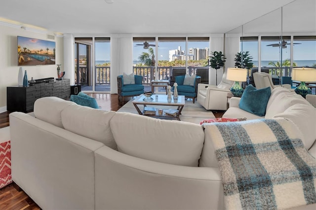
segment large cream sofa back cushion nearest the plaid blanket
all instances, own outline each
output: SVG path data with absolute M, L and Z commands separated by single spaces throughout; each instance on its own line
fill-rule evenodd
M 161 163 L 198 165 L 204 142 L 200 125 L 127 112 L 117 112 L 110 125 L 119 152 Z

